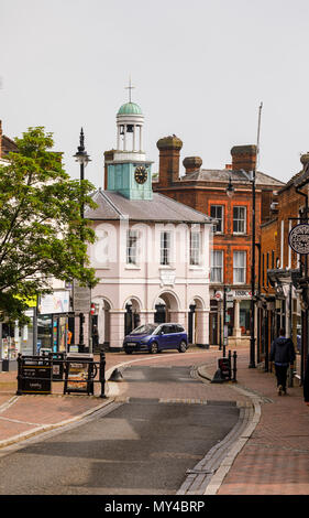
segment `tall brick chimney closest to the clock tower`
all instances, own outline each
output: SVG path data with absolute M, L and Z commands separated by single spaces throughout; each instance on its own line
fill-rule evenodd
M 159 150 L 158 185 L 167 186 L 179 180 L 179 158 L 183 142 L 178 137 L 164 137 L 156 143 Z

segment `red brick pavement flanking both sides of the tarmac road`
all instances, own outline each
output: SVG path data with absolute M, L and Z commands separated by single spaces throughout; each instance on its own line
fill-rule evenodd
M 62 382 L 53 384 L 48 396 L 16 396 L 16 371 L 0 373 L 0 454 L 8 446 L 79 421 L 121 398 L 147 398 L 151 393 L 162 401 L 235 401 L 241 408 L 239 425 L 213 451 L 206 452 L 177 494 L 309 495 L 309 407 L 299 381 L 294 379 L 288 393 L 278 396 L 274 374 L 249 368 L 246 347 L 236 353 L 236 382 L 223 384 L 211 382 L 222 356 L 218 347 L 130 357 L 107 353 L 107 380 L 118 368 L 124 381 L 107 381 L 104 399 L 100 398 L 100 384 L 95 384 L 93 396 L 64 396 Z M 148 391 L 144 384 L 141 390 L 137 382 L 125 381 L 125 369 L 134 365 L 189 365 L 191 375 L 201 382 L 154 384 Z

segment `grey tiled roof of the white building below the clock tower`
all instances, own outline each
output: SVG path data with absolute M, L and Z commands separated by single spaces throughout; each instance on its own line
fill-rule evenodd
M 128 199 L 111 191 L 96 191 L 98 207 L 85 211 L 87 219 L 131 219 L 135 222 L 212 223 L 212 218 L 163 194 L 153 193 L 153 199 Z

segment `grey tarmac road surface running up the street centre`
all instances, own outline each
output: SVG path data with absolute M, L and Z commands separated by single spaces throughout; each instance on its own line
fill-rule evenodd
M 0 494 L 175 495 L 187 471 L 238 423 L 235 401 L 168 399 L 179 384 L 188 398 L 201 384 L 188 366 L 135 364 L 124 378 L 122 401 L 1 456 Z M 166 397 L 136 397 L 134 387 L 152 384 Z

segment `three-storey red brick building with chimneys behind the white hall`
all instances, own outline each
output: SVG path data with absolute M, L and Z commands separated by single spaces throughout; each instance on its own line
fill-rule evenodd
M 222 341 L 222 296 L 227 289 L 229 345 L 249 339 L 252 261 L 252 182 L 246 173 L 255 169 L 256 147 L 236 145 L 231 150 L 232 163 L 223 169 L 202 169 L 199 157 L 187 157 L 179 170 L 183 142 L 176 136 L 157 142 L 159 150 L 158 181 L 154 191 L 173 197 L 217 219 L 211 252 L 210 343 Z M 233 185 L 233 196 L 227 187 Z M 256 172 L 256 242 L 260 225 L 268 220 L 269 206 L 284 183 Z M 258 253 L 256 247 L 256 279 Z M 194 311 L 194 307 L 192 307 Z

